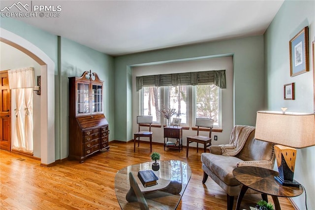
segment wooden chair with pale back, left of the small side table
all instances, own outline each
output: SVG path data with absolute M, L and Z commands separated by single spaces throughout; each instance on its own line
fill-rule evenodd
M 136 139 L 138 138 L 138 147 L 140 143 L 140 137 L 149 137 L 150 138 L 150 152 L 152 152 L 152 134 L 151 132 L 151 124 L 152 124 L 152 116 L 137 116 L 138 123 L 138 132 L 133 134 L 133 152 L 136 151 Z M 143 124 L 149 125 L 149 131 L 140 131 L 140 127 Z

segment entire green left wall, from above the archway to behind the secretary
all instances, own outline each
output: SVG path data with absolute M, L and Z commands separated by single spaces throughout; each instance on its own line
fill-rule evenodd
M 81 76 L 86 70 L 104 80 L 104 114 L 114 139 L 114 60 L 111 56 L 52 35 L 11 18 L 0 18 L 1 28 L 19 35 L 40 48 L 55 63 L 55 159 L 68 156 L 68 77 Z

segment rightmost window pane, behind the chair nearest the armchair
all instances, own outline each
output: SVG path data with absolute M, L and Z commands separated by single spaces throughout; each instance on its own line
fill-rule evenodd
M 195 116 L 214 119 L 214 126 L 220 125 L 220 97 L 216 85 L 195 86 Z

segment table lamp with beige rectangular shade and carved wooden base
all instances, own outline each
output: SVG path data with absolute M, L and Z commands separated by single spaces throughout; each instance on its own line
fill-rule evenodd
M 255 139 L 275 144 L 279 170 L 275 179 L 284 186 L 299 187 L 293 180 L 295 148 L 315 145 L 315 114 L 257 111 Z

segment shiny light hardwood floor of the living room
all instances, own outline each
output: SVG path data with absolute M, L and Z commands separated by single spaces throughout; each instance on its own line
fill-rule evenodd
M 225 210 L 226 194 L 210 177 L 202 184 L 200 155 L 195 149 L 163 150 L 154 144 L 153 151 L 161 160 L 187 162 L 192 175 L 177 210 Z M 0 209 L 2 210 L 120 210 L 115 195 L 115 175 L 128 166 L 150 160 L 150 145 L 140 143 L 133 152 L 133 142 L 110 142 L 110 151 L 98 153 L 84 163 L 64 161 L 45 168 L 38 160 L 0 150 Z M 259 195 L 246 195 L 241 209 L 261 200 Z M 272 198 L 268 196 L 269 202 Z M 294 210 L 286 198 L 279 198 L 284 210 Z M 234 208 L 236 198 L 234 201 Z

